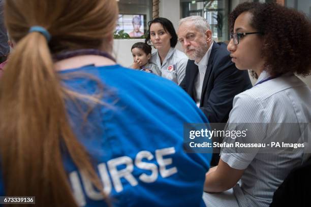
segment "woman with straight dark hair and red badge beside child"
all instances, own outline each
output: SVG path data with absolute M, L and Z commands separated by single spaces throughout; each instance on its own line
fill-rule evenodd
M 175 49 L 177 34 L 172 22 L 166 18 L 155 18 L 148 22 L 145 43 L 158 51 L 151 55 L 150 62 L 161 68 L 162 77 L 180 84 L 185 75 L 188 57 Z

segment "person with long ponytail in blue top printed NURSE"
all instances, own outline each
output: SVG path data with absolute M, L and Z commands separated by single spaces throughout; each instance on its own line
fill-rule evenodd
M 0 81 L 0 196 L 204 205 L 210 155 L 183 151 L 183 124 L 204 114 L 171 81 L 116 64 L 115 0 L 78 2 L 5 1 L 16 45 Z

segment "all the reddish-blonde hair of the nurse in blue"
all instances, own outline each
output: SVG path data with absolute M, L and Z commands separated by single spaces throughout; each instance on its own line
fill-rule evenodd
M 103 193 L 65 108 L 66 98 L 81 100 L 85 94 L 61 86 L 51 54 L 102 49 L 112 38 L 117 16 L 115 0 L 5 1 L 6 26 L 17 43 L 0 81 L 0 163 L 6 195 L 36 196 L 39 206 L 76 206 L 63 151 Z M 47 29 L 51 40 L 28 33 L 34 25 Z M 92 99 L 100 102 L 98 96 Z

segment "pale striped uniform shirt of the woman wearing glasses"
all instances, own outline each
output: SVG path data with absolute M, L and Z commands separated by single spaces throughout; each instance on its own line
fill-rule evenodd
M 268 77 L 266 72 L 261 73 L 257 83 Z M 310 123 L 310 103 L 310 88 L 295 75 L 286 74 L 236 95 L 228 123 L 265 123 L 262 128 L 248 130 L 247 139 L 259 143 L 276 138 L 282 142 L 289 136 L 300 136 L 299 129 L 278 128 L 271 123 Z M 232 142 L 230 137 L 227 138 L 224 141 Z M 264 150 L 258 148 L 239 153 L 238 148 L 222 149 L 224 162 L 232 168 L 245 169 L 241 188 L 233 189 L 239 206 L 269 206 L 277 187 L 291 169 L 302 163 L 302 148 L 294 153 L 262 153 Z

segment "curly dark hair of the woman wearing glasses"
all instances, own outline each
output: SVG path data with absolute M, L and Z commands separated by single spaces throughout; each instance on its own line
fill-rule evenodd
M 230 32 L 243 12 L 250 12 L 250 25 L 263 32 L 264 70 L 271 76 L 288 72 L 311 73 L 311 22 L 303 14 L 277 4 L 243 3 L 230 14 Z

